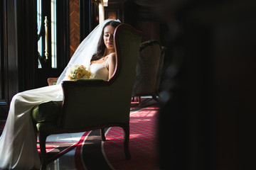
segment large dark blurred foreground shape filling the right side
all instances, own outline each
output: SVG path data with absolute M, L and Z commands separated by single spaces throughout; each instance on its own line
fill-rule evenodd
M 159 1 L 170 63 L 161 169 L 255 169 L 255 9 L 254 0 Z

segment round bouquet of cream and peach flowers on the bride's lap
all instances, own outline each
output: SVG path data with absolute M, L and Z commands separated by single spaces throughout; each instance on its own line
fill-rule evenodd
M 92 78 L 90 70 L 87 70 L 83 65 L 74 65 L 73 67 L 68 68 L 65 75 L 69 80 Z

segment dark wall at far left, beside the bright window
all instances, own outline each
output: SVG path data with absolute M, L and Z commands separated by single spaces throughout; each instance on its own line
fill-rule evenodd
M 1 1 L 1 115 L 12 96 L 33 87 L 36 38 L 34 1 Z

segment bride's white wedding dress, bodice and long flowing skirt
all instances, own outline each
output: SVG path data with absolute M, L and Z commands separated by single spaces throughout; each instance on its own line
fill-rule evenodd
M 96 79 L 108 79 L 106 65 L 92 64 L 90 71 Z M 39 103 L 62 101 L 61 85 L 46 86 L 16 94 L 0 137 L 0 169 L 40 169 L 31 109 Z

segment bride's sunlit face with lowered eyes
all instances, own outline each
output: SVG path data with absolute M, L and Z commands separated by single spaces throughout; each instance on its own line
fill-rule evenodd
M 114 49 L 114 27 L 112 26 L 106 26 L 104 28 L 104 43 L 108 50 Z

